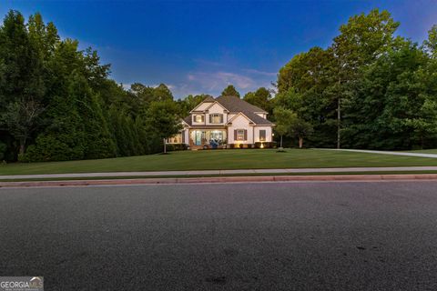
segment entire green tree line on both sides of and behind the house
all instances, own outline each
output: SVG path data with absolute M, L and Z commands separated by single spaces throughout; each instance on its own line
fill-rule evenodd
M 276 90 L 243 99 L 267 110 L 286 146 L 437 147 L 437 26 L 417 44 L 387 11 L 352 16 L 327 48 L 279 70 Z M 166 85 L 126 90 L 97 51 L 61 39 L 41 15 L 0 26 L 0 158 L 56 161 L 158 153 L 206 95 Z M 274 93 L 274 94 L 273 94 Z M 229 85 L 222 95 L 239 95 Z

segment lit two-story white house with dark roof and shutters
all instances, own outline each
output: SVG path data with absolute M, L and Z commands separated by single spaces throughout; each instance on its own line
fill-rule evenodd
M 180 134 L 168 143 L 186 144 L 192 149 L 262 145 L 272 141 L 274 125 L 267 115 L 237 96 L 208 96 L 183 119 Z

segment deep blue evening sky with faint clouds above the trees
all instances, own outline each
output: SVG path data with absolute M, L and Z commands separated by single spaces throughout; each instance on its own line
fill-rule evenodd
M 311 46 L 330 45 L 351 15 L 388 9 L 397 34 L 422 42 L 437 24 L 437 1 L 38 1 L 2 0 L 40 12 L 62 37 L 92 46 L 118 83 L 165 83 L 175 97 L 271 86 L 279 68 Z

